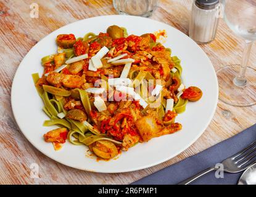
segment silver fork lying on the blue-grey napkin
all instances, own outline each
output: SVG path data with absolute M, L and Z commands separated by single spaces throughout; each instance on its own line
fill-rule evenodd
M 251 143 L 248 147 L 241 150 L 239 153 L 225 159 L 221 162 L 224 167 L 224 172 L 229 173 L 237 173 L 246 170 L 250 165 L 255 163 L 254 158 L 256 157 L 256 141 Z M 203 175 L 207 174 L 211 171 L 216 171 L 218 168 L 216 167 L 209 167 L 202 172 L 190 177 L 189 179 L 184 180 L 183 182 L 178 183 L 178 185 L 188 185 L 189 183 L 193 182 L 194 180 L 202 177 Z

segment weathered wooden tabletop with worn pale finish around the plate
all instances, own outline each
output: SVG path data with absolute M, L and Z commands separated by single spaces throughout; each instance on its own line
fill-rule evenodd
M 39 18 L 30 17 L 37 3 Z M 188 34 L 192 0 L 160 0 L 151 18 Z M 99 174 L 59 164 L 34 148 L 15 123 L 10 106 L 12 79 L 20 62 L 36 42 L 47 34 L 84 18 L 117 14 L 107 0 L 0 0 L 0 183 L 1 184 L 125 184 L 199 153 L 256 123 L 256 106 L 237 108 L 218 102 L 215 116 L 204 134 L 186 151 L 165 163 L 136 172 Z M 234 36 L 221 19 L 215 41 L 200 46 L 215 69 L 240 63 L 244 42 Z M 249 65 L 256 67 L 253 46 Z M 230 116 L 223 110 L 231 111 Z M 39 178 L 30 177 L 30 165 L 39 165 Z

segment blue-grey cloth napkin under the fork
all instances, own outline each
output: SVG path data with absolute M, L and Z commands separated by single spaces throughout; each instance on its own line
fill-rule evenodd
M 197 155 L 180 161 L 166 167 L 154 174 L 144 177 L 132 185 L 158 185 L 158 184 L 177 184 L 183 180 L 192 177 L 192 175 L 203 171 L 209 167 L 215 166 L 217 163 L 221 163 L 224 159 L 234 155 L 238 151 L 247 147 L 250 143 L 256 140 L 256 124 L 247 128 L 245 131 L 231 137 L 223 142 L 208 148 L 205 151 L 198 153 Z M 218 177 L 220 174 L 218 173 Z M 191 184 L 199 185 L 234 185 L 237 184 L 242 172 L 236 174 L 224 173 L 224 178 L 216 178 L 215 171 L 209 172 L 209 174 L 200 177 Z

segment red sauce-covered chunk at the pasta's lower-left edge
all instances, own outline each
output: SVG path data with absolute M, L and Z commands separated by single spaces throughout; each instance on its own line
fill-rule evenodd
M 67 139 L 68 130 L 66 128 L 54 129 L 44 134 L 44 140 L 46 142 L 59 142 L 65 143 Z

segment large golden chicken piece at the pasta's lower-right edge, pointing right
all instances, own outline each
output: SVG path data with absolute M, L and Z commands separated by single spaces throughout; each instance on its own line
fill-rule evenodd
M 157 114 L 156 114 L 157 115 Z M 153 137 L 159 137 L 161 135 L 172 134 L 176 131 L 181 130 L 182 126 L 180 123 L 171 123 L 167 127 L 159 123 L 156 115 L 149 114 L 143 116 L 136 121 L 135 125 L 139 131 L 144 142 L 149 141 Z

